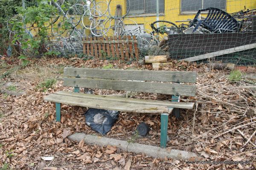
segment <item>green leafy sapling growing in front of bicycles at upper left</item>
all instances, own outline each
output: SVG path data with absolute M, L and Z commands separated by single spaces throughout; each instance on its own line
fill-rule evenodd
M 15 35 L 12 42 L 19 42 L 26 56 L 42 56 L 45 53 L 58 55 L 55 52 L 47 52 L 49 42 L 54 39 L 53 32 L 64 34 L 72 25 L 60 17 L 58 9 L 49 4 L 50 0 L 37 1 L 38 6 L 17 9 L 23 20 L 13 23 L 12 30 L 15 30 Z M 61 7 L 66 9 L 65 6 Z M 55 24 L 58 20 L 61 20 L 60 26 Z M 22 58 L 24 60 L 24 55 Z

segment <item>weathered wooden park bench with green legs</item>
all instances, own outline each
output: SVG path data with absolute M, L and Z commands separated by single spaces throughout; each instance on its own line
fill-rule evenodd
M 50 94 L 44 100 L 56 103 L 57 122 L 61 120 L 61 103 L 123 112 L 161 114 L 160 147 L 166 147 L 169 114 L 175 111 L 178 116 L 180 108 L 194 107 L 192 102 L 179 102 L 179 97 L 195 96 L 196 86 L 177 82 L 195 83 L 196 72 L 64 68 L 64 86 L 74 87 L 74 92 L 60 91 Z M 172 102 L 82 94 L 79 93 L 79 88 L 168 94 L 172 95 Z

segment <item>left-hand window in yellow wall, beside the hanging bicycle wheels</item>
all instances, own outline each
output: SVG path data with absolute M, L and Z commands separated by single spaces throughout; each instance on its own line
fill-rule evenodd
M 128 14 L 155 14 L 157 13 L 157 1 L 156 0 L 130 0 L 130 4 L 127 2 L 126 10 L 130 5 L 130 11 Z M 159 13 L 164 13 L 164 0 L 159 0 Z

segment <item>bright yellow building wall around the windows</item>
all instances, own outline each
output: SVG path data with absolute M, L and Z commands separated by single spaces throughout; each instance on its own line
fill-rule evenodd
M 116 4 L 122 5 L 122 14 L 125 14 L 125 1 L 126 0 L 112 0 L 110 4 L 111 14 L 114 15 Z M 96 2 L 99 2 L 99 0 L 96 0 Z M 227 0 L 226 11 L 227 13 L 233 13 L 236 11 L 244 10 L 244 6 L 249 9 L 256 8 L 256 0 Z M 159 17 L 159 20 L 168 20 L 175 23 L 177 20 L 187 20 L 193 19 L 195 17 L 195 14 L 180 14 L 180 8 L 180 0 L 165 0 L 165 13 L 164 16 Z M 144 28 L 149 30 L 151 30 L 150 24 L 156 21 L 156 16 L 131 16 L 125 18 L 134 20 L 137 24 L 144 24 Z M 132 23 L 126 22 L 125 24 Z M 175 24 L 179 25 L 181 23 Z

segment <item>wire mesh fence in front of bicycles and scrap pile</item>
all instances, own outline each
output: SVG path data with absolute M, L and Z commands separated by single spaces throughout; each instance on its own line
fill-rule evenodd
M 256 0 L 52 0 L 50 5 L 58 14 L 48 23 L 50 38 L 44 51 L 122 60 L 167 54 L 177 60 L 256 65 Z M 24 0 L 23 6 L 37 3 Z M 9 20 L 14 18 L 25 16 Z M 64 21 L 70 24 L 65 30 Z M 31 36 L 33 29 L 26 26 Z M 10 38 L 11 34 L 12 29 Z M 106 37 L 133 37 L 131 44 L 137 47 Z M 84 44 L 91 44 L 93 52 L 87 53 Z M 119 56 L 130 51 L 137 57 Z

